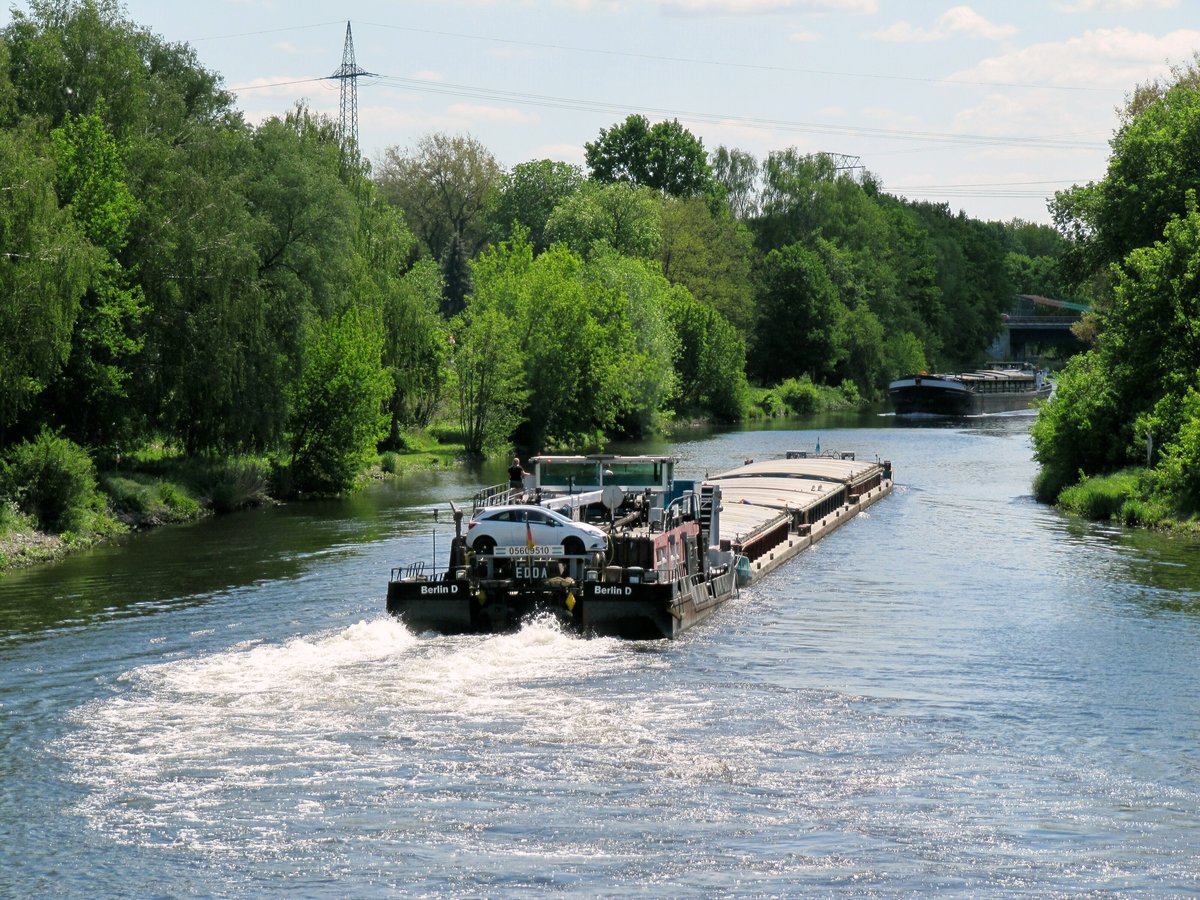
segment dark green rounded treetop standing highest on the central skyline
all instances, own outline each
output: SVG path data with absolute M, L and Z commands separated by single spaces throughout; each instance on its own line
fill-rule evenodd
M 672 197 L 713 192 L 703 142 L 676 119 L 650 125 L 644 115 L 630 115 L 583 146 L 596 181 L 625 181 Z

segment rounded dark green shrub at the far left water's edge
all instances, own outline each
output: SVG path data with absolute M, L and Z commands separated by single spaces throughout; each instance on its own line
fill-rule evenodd
M 43 532 L 94 530 L 104 518 L 96 467 L 88 451 L 49 431 L 7 454 L 4 494 Z

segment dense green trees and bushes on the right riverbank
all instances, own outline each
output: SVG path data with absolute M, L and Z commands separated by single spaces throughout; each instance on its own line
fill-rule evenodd
M 1038 496 L 1159 526 L 1200 514 L 1200 66 L 1140 85 L 1105 176 L 1055 198 L 1063 272 L 1096 299 L 1094 346 L 1040 410 Z M 1133 467 L 1133 468 L 1132 468 Z

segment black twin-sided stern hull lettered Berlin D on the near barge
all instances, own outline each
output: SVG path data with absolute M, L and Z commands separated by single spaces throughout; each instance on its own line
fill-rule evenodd
M 588 636 L 626 640 L 676 637 L 733 596 L 736 572 L 670 583 L 547 587 L 469 581 L 392 581 L 388 612 L 413 631 L 444 635 L 512 631 L 532 617 L 553 614 Z

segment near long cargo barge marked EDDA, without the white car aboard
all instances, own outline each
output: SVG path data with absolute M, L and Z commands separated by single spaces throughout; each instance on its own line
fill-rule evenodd
M 892 490 L 889 462 L 788 454 L 703 481 L 677 480 L 667 456 L 539 456 L 520 488 L 475 497 L 553 509 L 602 524 L 604 553 L 562 546 L 467 550 L 464 512 L 442 572 L 392 570 L 388 611 L 415 631 L 493 632 L 551 613 L 587 635 L 674 637 Z

